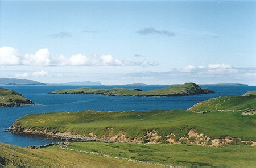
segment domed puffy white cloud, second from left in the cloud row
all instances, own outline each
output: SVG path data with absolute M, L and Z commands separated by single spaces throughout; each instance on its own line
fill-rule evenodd
M 22 61 L 24 65 L 43 65 L 51 64 L 50 53 L 47 48 L 39 49 L 35 54 L 26 54 Z

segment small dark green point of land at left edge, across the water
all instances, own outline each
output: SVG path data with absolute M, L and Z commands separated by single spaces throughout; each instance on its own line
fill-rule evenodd
M 0 87 L 0 107 L 26 106 L 35 103 L 24 98 L 16 91 Z

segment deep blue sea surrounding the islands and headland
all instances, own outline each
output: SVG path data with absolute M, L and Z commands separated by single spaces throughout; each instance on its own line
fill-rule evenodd
M 87 86 L 93 88 L 138 88 L 142 90 L 160 89 L 170 85 L 146 85 L 146 86 Z M 183 97 L 110 97 L 102 95 L 69 95 L 69 94 L 47 94 L 53 90 L 71 89 L 86 86 L 0 86 L 6 89 L 18 91 L 24 97 L 36 103 L 36 106 L 2 107 L 0 108 L 0 142 L 18 146 L 44 145 L 54 141 L 39 138 L 28 138 L 3 132 L 9 128 L 16 119 L 26 114 L 40 114 L 47 112 L 101 110 L 101 111 L 148 111 L 148 110 L 186 110 L 194 104 L 226 95 L 242 95 L 246 91 L 256 90 L 256 86 L 217 86 L 200 85 L 216 91 L 214 94 L 202 94 Z

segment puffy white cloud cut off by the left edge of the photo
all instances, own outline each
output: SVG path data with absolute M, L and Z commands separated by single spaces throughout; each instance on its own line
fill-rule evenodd
M 19 53 L 13 47 L 3 46 L 0 48 L 0 65 L 19 65 Z

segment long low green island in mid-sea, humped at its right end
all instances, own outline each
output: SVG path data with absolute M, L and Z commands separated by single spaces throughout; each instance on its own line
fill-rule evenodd
M 100 94 L 105 96 L 188 96 L 208 93 L 215 92 L 208 88 L 201 88 L 195 83 L 185 83 L 183 85 L 148 91 L 125 88 L 93 89 L 90 87 L 82 87 L 78 89 L 55 90 L 50 92 L 50 94 Z

